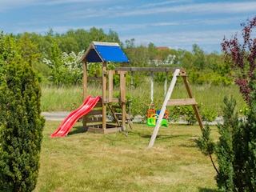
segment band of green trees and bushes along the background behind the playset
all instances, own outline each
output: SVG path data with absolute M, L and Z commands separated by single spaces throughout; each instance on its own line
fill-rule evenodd
M 230 74 L 230 66 L 218 53 L 206 54 L 198 45 L 193 45 L 193 51 L 186 50 L 158 50 L 152 42 L 148 46 L 135 46 L 135 39 L 120 42 L 118 34 L 109 30 L 106 34 L 102 29 L 92 27 L 90 30 L 67 30 L 64 34 L 54 33 L 50 29 L 45 35 L 27 33 L 17 35 L 3 35 L 6 40 L 16 41 L 15 46 L 10 46 L 12 51 L 18 51 L 22 58 L 32 63 L 38 70 L 38 77 L 42 82 L 54 85 L 70 85 L 82 81 L 80 66 L 76 65 L 72 71 L 67 71 L 63 53 L 68 55 L 79 53 L 87 49 L 92 41 L 118 42 L 130 59 L 130 66 L 171 66 L 185 68 L 190 83 L 226 85 L 233 83 Z M 9 43 L 10 44 L 10 43 Z M 11 45 L 11 44 L 10 44 Z M 8 46 L 5 46 L 9 49 Z M 3 60 L 5 61 L 5 60 Z M 52 62 L 54 67 L 47 67 L 45 63 Z M 145 79 L 146 73 L 139 74 L 139 78 Z M 163 82 L 165 74 L 156 74 L 155 81 Z M 168 78 L 171 74 L 168 74 Z M 134 75 L 134 77 L 136 77 Z M 135 79 L 135 78 L 134 78 Z M 118 81 L 117 81 L 118 82 Z M 135 82 L 135 81 L 134 81 Z

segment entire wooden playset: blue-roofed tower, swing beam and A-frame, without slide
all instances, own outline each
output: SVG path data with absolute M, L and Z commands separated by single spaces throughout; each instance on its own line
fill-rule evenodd
M 166 92 L 165 100 L 162 104 L 160 114 L 158 116 L 158 122 L 154 127 L 154 132 L 151 136 L 149 147 L 154 145 L 154 140 L 158 134 L 160 123 L 165 115 L 167 106 L 193 106 L 194 113 L 198 120 L 198 124 L 203 129 L 202 119 L 198 112 L 197 102 L 193 97 L 189 83 L 186 79 L 186 70 L 171 67 L 126 67 L 126 63 L 129 59 L 126 54 L 123 53 L 118 43 L 114 42 L 91 42 L 90 46 L 83 55 L 81 61 L 84 63 L 84 86 L 83 95 L 86 98 L 87 95 L 87 82 L 89 80 L 98 81 L 98 85 L 102 86 L 102 96 L 97 105 L 88 114 L 82 117 L 83 126 L 87 131 L 107 134 L 110 132 L 125 130 L 126 123 L 132 128 L 132 122 L 130 116 L 126 114 L 126 73 L 128 72 L 172 72 L 174 73 L 170 87 Z M 89 77 L 87 74 L 88 63 L 102 62 L 102 75 Z M 121 62 L 122 67 L 116 67 L 114 70 L 107 70 L 106 66 L 108 62 Z M 114 74 L 120 76 L 120 98 L 113 97 L 113 77 Z M 189 98 L 182 99 L 170 99 L 170 96 L 174 90 L 177 77 L 180 76 L 186 86 L 186 91 Z M 115 124 L 107 122 L 106 113 L 107 109 L 110 109 L 113 114 Z

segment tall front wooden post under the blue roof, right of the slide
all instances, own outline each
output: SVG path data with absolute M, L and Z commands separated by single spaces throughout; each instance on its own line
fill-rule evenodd
M 102 62 L 102 130 L 106 130 L 106 62 Z

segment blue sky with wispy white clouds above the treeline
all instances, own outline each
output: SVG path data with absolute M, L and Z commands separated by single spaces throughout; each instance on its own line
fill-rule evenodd
M 121 42 L 222 52 L 223 38 L 241 34 L 256 16 L 255 0 L 0 0 L 4 34 L 114 30 Z M 86 50 L 87 47 L 85 47 Z

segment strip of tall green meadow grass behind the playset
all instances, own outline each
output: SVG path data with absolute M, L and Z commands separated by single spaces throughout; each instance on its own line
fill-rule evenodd
M 202 105 L 204 109 L 214 110 L 218 115 L 221 115 L 221 106 L 225 96 L 233 95 L 238 102 L 237 110 L 241 110 L 245 105 L 239 93 L 238 86 L 191 85 L 191 91 L 198 104 Z M 118 94 L 118 88 L 114 89 L 114 93 Z M 101 84 L 88 86 L 87 94 L 93 96 L 102 95 Z M 130 95 L 133 101 L 132 107 L 140 105 L 141 110 L 146 111 L 150 106 L 150 83 L 144 82 L 142 85 L 132 89 L 130 89 L 130 86 L 127 86 L 126 94 Z M 178 83 L 174 87 L 171 98 L 188 98 L 186 87 L 183 83 Z M 163 100 L 164 86 L 155 83 L 154 104 L 156 108 L 161 108 Z M 71 111 L 78 108 L 82 104 L 82 101 L 82 86 L 42 86 L 42 111 Z

